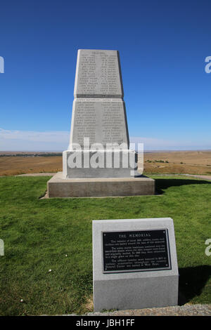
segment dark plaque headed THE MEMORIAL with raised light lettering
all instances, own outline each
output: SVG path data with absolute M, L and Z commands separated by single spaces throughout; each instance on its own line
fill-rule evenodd
M 103 272 L 170 270 L 167 229 L 103 232 Z

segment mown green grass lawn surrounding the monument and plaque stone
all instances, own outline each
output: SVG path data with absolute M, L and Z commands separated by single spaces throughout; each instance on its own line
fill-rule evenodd
M 211 183 L 153 178 L 159 195 L 92 199 L 39 199 L 49 177 L 0 178 L 0 315 L 87 312 L 98 219 L 173 218 L 180 301 L 211 303 Z

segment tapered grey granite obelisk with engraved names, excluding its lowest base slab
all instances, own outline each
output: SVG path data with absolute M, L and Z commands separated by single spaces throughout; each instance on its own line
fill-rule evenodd
M 70 145 L 68 150 L 63 152 L 63 176 L 132 176 L 131 171 L 136 171 L 136 152 L 129 150 L 120 58 L 117 51 L 78 51 L 74 97 Z M 86 143 L 89 143 L 89 146 L 85 145 Z M 96 150 L 98 165 L 96 162 L 93 168 L 91 160 L 94 163 Z M 115 162 L 117 152 L 120 164 Z M 76 166 L 79 157 L 82 157 L 82 164 L 79 161 Z M 84 166 L 84 160 L 87 167 Z

